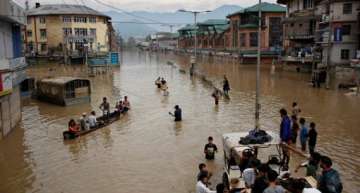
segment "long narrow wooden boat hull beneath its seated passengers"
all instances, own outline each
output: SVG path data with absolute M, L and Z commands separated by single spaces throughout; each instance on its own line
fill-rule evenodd
M 115 121 L 120 120 L 120 116 L 121 116 L 120 113 L 113 112 L 112 114 L 113 114 L 113 115 L 110 116 L 109 119 L 107 119 L 107 118 L 104 117 L 104 116 L 97 117 L 96 120 L 97 120 L 97 122 L 98 122 L 99 124 L 98 124 L 98 126 L 97 126 L 96 128 L 88 129 L 88 130 L 85 130 L 85 131 L 79 131 L 79 132 L 77 132 L 77 133 L 71 133 L 71 132 L 69 132 L 68 130 L 64 131 L 64 132 L 63 132 L 64 140 L 76 139 L 76 138 L 79 137 L 79 136 L 86 135 L 86 134 L 91 133 L 91 132 L 93 132 L 93 131 L 96 131 L 96 130 L 98 130 L 98 129 L 104 128 L 104 127 L 106 127 L 106 126 L 114 123 Z

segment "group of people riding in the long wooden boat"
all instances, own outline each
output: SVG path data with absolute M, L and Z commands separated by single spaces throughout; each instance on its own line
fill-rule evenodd
M 110 119 L 110 117 L 120 116 L 122 113 L 126 113 L 130 110 L 130 101 L 127 96 L 124 97 L 124 100 L 120 100 L 116 103 L 115 111 L 110 111 L 110 103 L 107 101 L 107 98 L 104 97 L 102 103 L 99 106 L 102 111 L 102 119 L 97 120 L 96 112 L 91 111 L 88 116 L 87 113 L 83 113 L 77 123 L 74 119 L 71 119 L 68 124 L 68 131 L 70 133 L 78 133 L 79 131 L 86 131 L 89 129 L 96 129 L 99 125 L 104 124 Z

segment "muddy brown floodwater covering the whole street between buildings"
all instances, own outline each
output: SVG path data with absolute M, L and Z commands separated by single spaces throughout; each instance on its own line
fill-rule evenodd
M 92 80 L 91 104 L 59 107 L 36 100 L 23 101 L 22 122 L 0 141 L 0 192 L 63 193 L 188 193 L 194 192 L 197 165 L 204 162 L 203 145 L 209 135 L 221 148 L 221 134 L 247 131 L 254 123 L 255 66 L 204 58 L 199 68 L 220 86 L 226 74 L 231 100 L 214 107 L 212 89 L 190 79 L 188 56 L 129 52 L 120 68 Z M 30 74 L 81 75 L 84 67 L 41 65 Z M 50 74 L 51 74 L 50 73 Z M 360 98 L 334 90 L 314 89 L 308 74 L 261 70 L 261 125 L 278 131 L 278 110 L 297 101 L 302 116 L 318 125 L 318 149 L 333 158 L 341 172 L 345 192 L 360 188 Z M 154 80 L 168 80 L 164 97 Z M 128 95 L 132 110 L 118 122 L 78 140 L 64 142 L 62 131 L 70 118 L 95 109 L 103 96 L 115 100 Z M 183 122 L 175 124 L 168 112 L 183 109 Z M 222 150 L 213 163 L 213 184 L 220 180 Z

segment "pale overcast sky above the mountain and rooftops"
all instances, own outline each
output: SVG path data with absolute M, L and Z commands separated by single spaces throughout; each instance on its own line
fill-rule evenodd
M 26 0 L 15 0 L 24 5 Z M 257 0 L 99 0 L 114 7 L 127 11 L 152 11 L 152 12 L 171 12 L 178 9 L 192 10 L 211 10 L 221 5 L 239 5 L 247 7 L 258 3 Z M 263 0 L 265 2 L 275 3 L 276 0 Z M 67 3 L 67 4 L 86 4 L 99 11 L 108 11 L 109 8 L 99 5 L 95 0 L 29 0 L 30 7 L 35 2 L 40 3 Z

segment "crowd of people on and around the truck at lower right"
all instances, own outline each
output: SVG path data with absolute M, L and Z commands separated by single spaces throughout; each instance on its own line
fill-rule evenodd
M 299 133 L 301 148 L 310 154 L 306 163 L 296 167 L 295 173 L 302 167 L 306 168 L 305 175 L 311 176 L 317 181 L 316 188 L 307 188 L 305 179 L 288 178 L 287 181 L 280 180 L 279 174 L 272 170 L 269 163 L 261 163 L 257 159 L 257 155 L 253 155 L 251 151 L 244 151 L 240 160 L 239 169 L 241 178 L 230 179 L 229 185 L 220 183 L 216 185 L 216 190 L 211 190 L 209 179 L 212 173 L 208 170 L 205 163 L 199 164 L 199 173 L 197 175 L 196 192 L 197 193 L 341 193 L 343 186 L 338 171 L 332 168 L 332 160 L 330 157 L 321 155 L 315 151 L 317 142 L 316 124 L 311 122 L 310 129 L 307 128 L 305 118 L 298 117 L 301 113 L 296 102 L 292 105 L 291 119 L 288 117 L 285 109 L 280 110 L 282 117 L 280 125 L 280 138 L 283 149 L 283 157 L 280 164 L 284 169 L 288 170 L 290 160 L 289 145 L 296 143 Z M 205 145 L 204 153 L 207 160 L 213 160 L 217 147 L 213 143 L 213 138 L 208 138 Z M 231 160 L 230 160 L 231 162 Z M 233 165 L 236 161 L 233 160 Z M 232 165 L 229 163 L 229 165 Z M 240 181 L 243 180 L 244 183 Z M 285 182 L 285 183 L 284 183 Z M 245 185 L 245 187 L 244 187 Z

